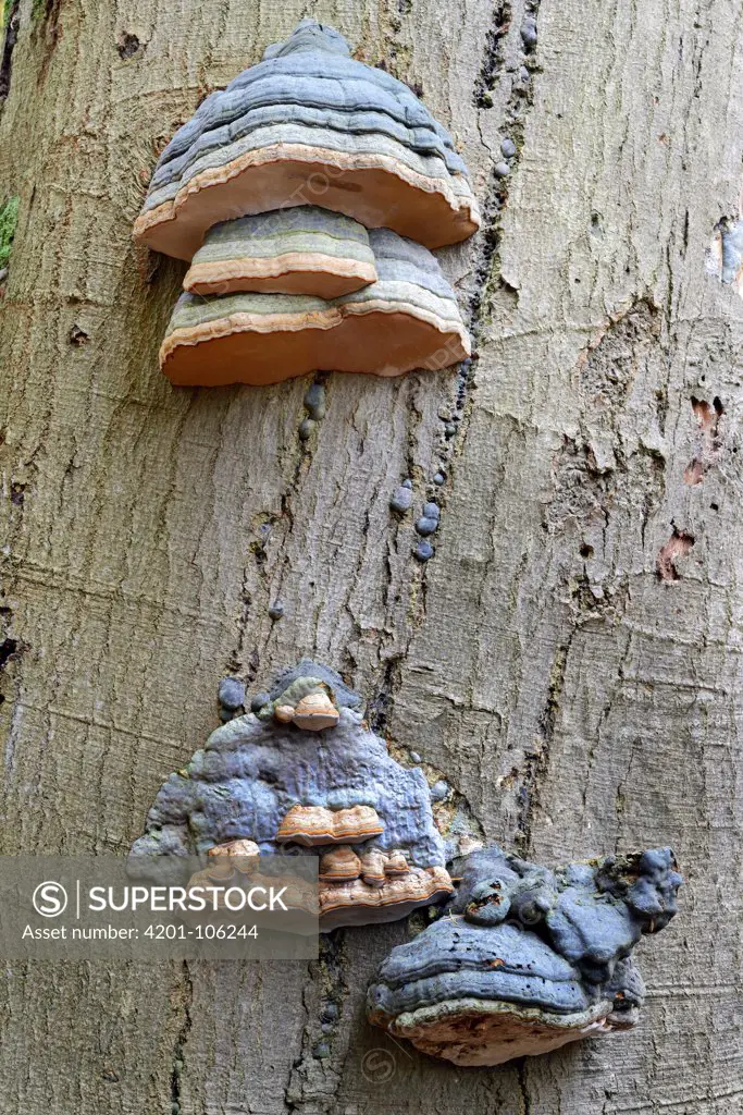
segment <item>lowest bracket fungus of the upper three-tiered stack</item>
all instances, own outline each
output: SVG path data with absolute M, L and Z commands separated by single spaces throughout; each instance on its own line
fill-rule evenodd
M 239 292 L 180 295 L 160 349 L 178 385 L 275 384 L 310 371 L 400 376 L 469 356 L 470 340 L 438 261 L 389 229 L 369 241 L 377 282 L 341 298 Z

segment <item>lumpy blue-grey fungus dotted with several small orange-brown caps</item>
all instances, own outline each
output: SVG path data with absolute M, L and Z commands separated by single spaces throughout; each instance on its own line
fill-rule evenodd
M 391 758 L 336 673 L 304 660 L 252 709 L 162 787 L 133 876 L 162 879 L 164 863 L 177 875 L 190 855 L 209 878 L 241 863 L 250 873 L 258 854 L 315 856 L 322 931 L 394 921 L 452 894 L 422 772 Z

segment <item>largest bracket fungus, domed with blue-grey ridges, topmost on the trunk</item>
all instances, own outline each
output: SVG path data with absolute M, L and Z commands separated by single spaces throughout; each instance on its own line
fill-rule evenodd
M 306 205 L 441 248 L 480 224 L 449 133 L 333 28 L 302 20 L 213 93 L 159 157 L 136 239 L 190 260 L 212 225 Z

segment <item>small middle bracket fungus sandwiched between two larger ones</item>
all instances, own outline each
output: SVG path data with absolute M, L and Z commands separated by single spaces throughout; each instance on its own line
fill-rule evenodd
M 215 224 L 183 287 L 192 294 L 257 291 L 333 299 L 375 279 L 374 253 L 362 224 L 301 205 Z

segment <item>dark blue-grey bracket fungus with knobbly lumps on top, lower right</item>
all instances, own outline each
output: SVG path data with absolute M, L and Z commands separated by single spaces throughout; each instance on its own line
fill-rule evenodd
M 671 921 L 681 883 L 669 849 L 554 871 L 475 852 L 448 917 L 382 963 L 369 1018 L 472 1066 L 628 1029 L 645 996 L 630 952 Z

